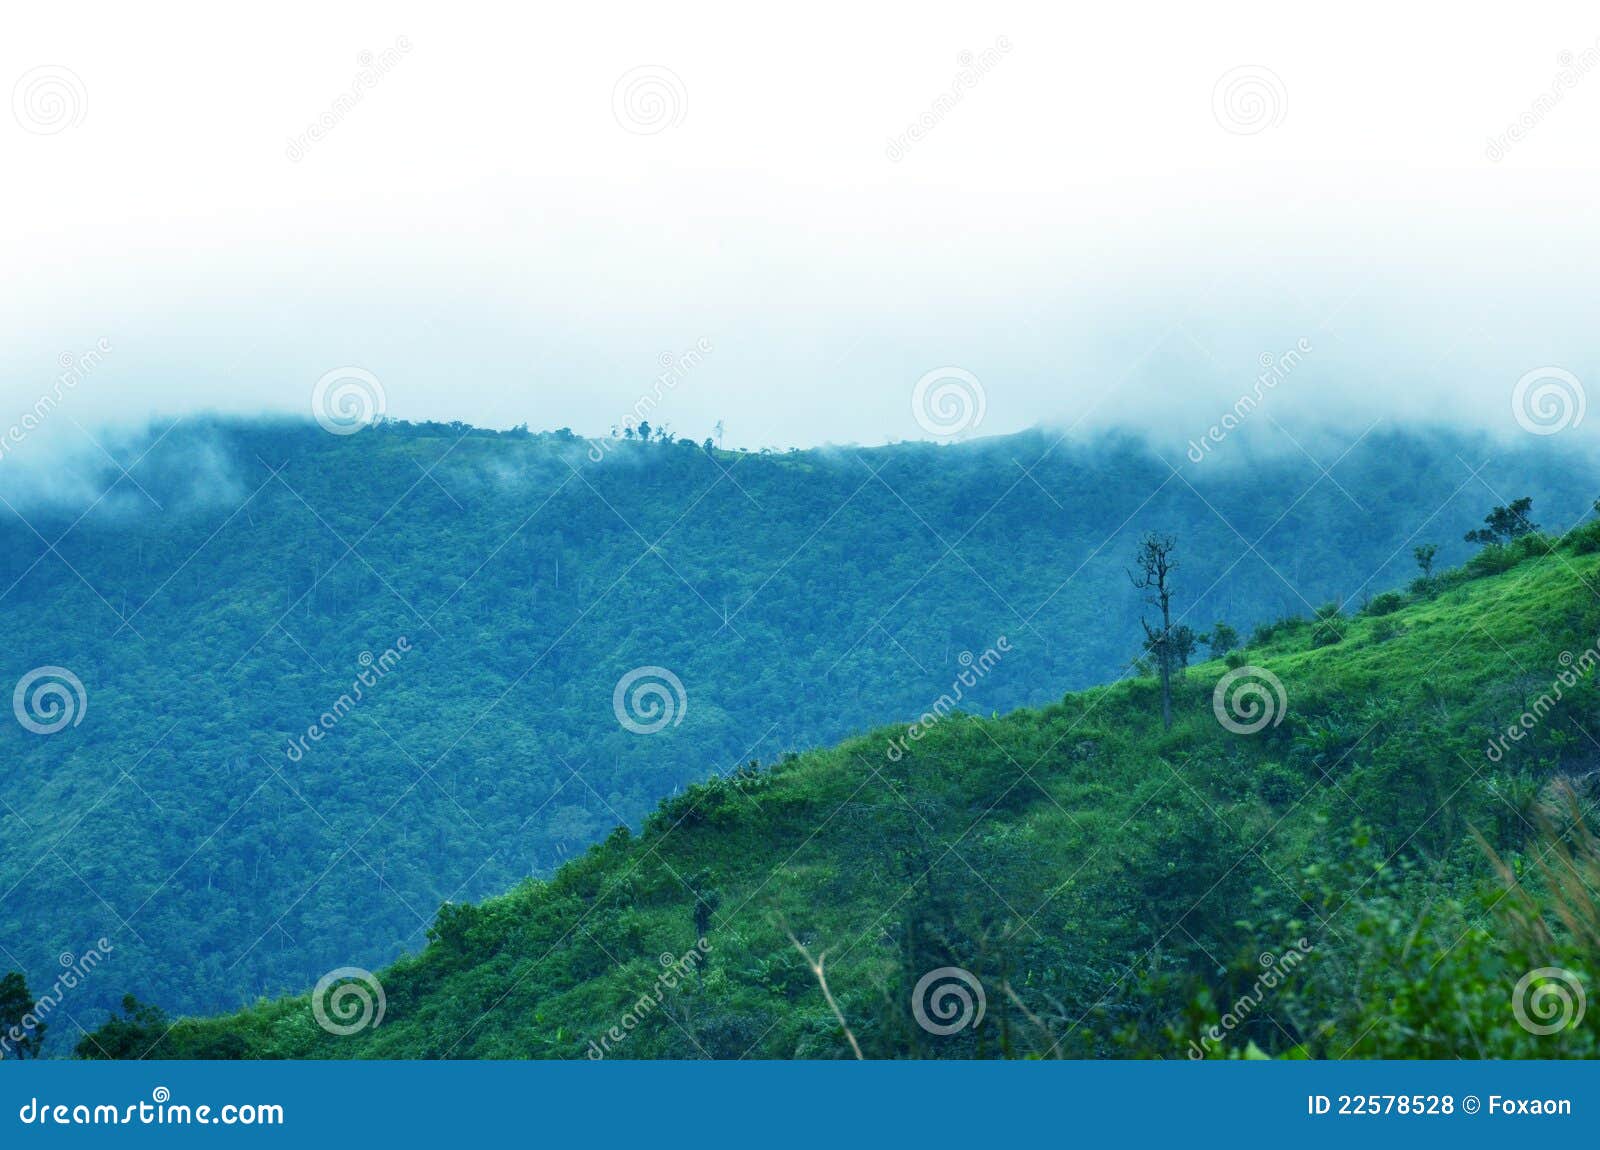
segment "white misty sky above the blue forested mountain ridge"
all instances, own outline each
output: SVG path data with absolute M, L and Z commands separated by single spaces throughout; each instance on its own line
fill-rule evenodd
M 38 443 L 352 366 L 594 435 L 691 349 L 651 421 L 742 446 L 925 438 L 939 369 L 1179 443 L 1290 349 L 1290 425 L 1600 377 L 1594 5 L 752 8 L 8 11 L 0 425 L 96 347 Z

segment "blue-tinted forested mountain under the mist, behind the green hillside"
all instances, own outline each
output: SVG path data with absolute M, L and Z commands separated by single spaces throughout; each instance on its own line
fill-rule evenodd
M 1181 542 L 1187 622 L 1248 630 L 1403 585 L 1419 542 L 1461 558 L 1512 494 L 1549 526 L 1592 496 L 1546 440 L 1352 441 L 1173 467 L 1046 432 L 741 454 L 186 421 L 109 443 L 115 467 L 3 488 L 3 681 L 66 669 L 86 707 L 0 725 L 0 963 L 48 982 L 109 939 L 74 996 L 90 1022 L 125 990 L 224 1009 L 379 966 L 446 900 L 691 782 L 922 713 L 1002 637 L 973 713 L 1117 677 L 1146 529 Z M 653 734 L 662 696 L 627 693 L 634 726 L 614 705 L 635 669 L 680 685 L 654 680 Z

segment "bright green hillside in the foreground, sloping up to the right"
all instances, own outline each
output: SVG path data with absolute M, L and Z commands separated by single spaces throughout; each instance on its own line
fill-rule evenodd
M 78 1051 L 1594 1057 L 1600 1011 L 1541 1035 L 1518 1009 L 1555 1000 L 1514 998 L 1539 968 L 1590 996 L 1600 974 L 1597 552 L 1595 526 L 1528 534 L 1264 627 L 1187 672 L 1170 731 L 1138 678 L 712 779 L 549 881 L 445 907 L 352 1035 L 304 995 L 176 1024 L 130 1004 Z M 1227 673 L 1269 712 L 1218 702 Z M 941 968 L 973 1008 L 923 995 L 918 1025 Z

